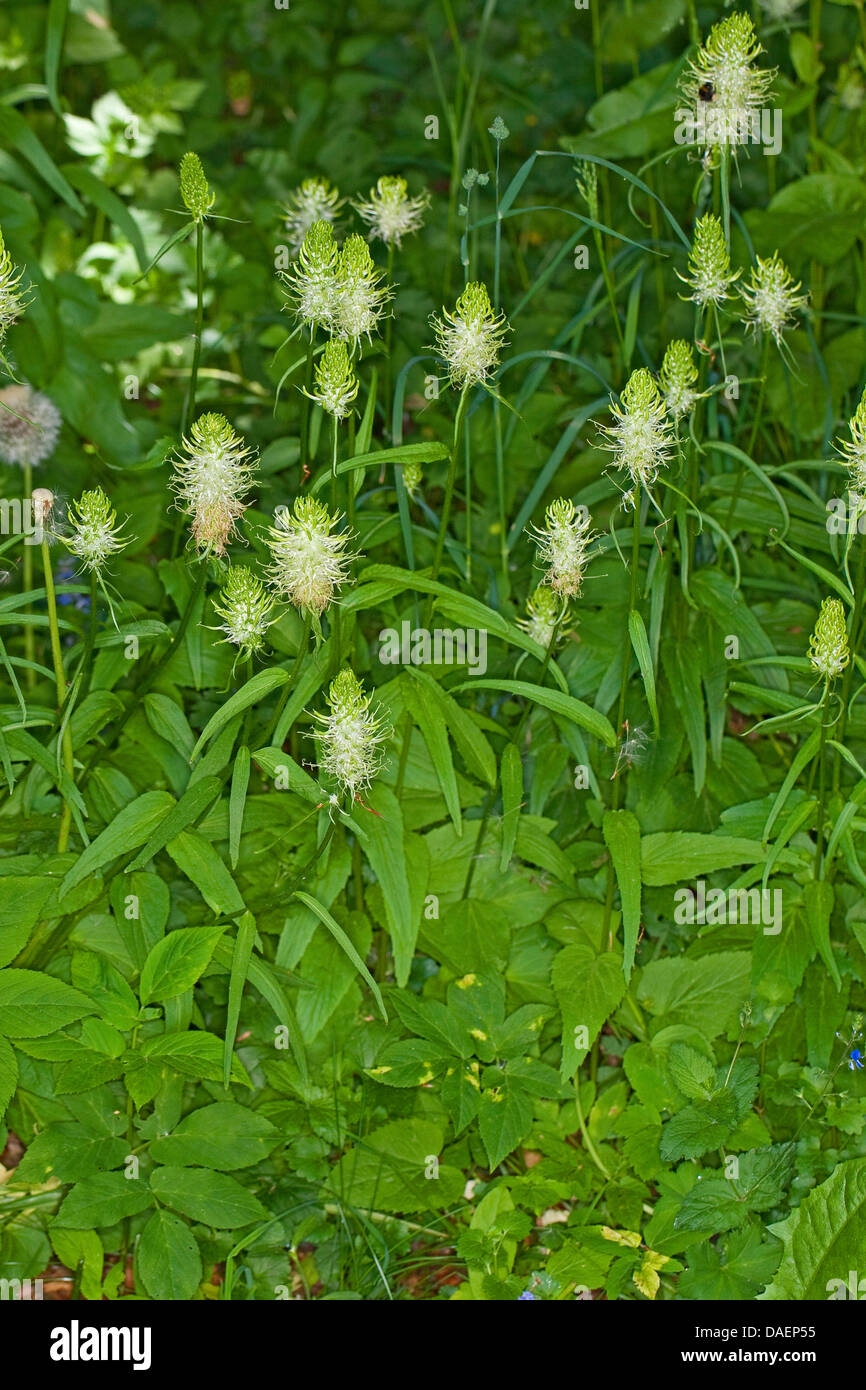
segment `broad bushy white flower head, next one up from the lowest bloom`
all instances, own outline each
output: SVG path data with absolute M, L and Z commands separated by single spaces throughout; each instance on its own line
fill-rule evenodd
M 348 532 L 334 530 L 338 521 L 316 498 L 297 498 L 293 512 L 281 507 L 268 528 L 270 577 L 297 609 L 322 613 L 346 581 L 352 555 Z

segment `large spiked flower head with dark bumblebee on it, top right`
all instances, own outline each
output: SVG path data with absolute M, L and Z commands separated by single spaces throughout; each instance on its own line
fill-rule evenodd
M 738 146 L 749 140 L 752 117 L 765 104 L 774 78 L 773 71 L 756 67 L 762 53 L 751 17 L 734 13 L 713 25 L 689 63 L 680 90 L 703 118 L 708 145 Z

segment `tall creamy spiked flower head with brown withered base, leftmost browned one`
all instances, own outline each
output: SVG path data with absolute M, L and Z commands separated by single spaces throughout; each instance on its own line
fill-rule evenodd
M 183 449 L 172 480 L 178 503 L 192 517 L 196 548 L 222 555 L 246 509 L 242 496 L 253 481 L 252 450 L 217 414 L 196 420 Z

